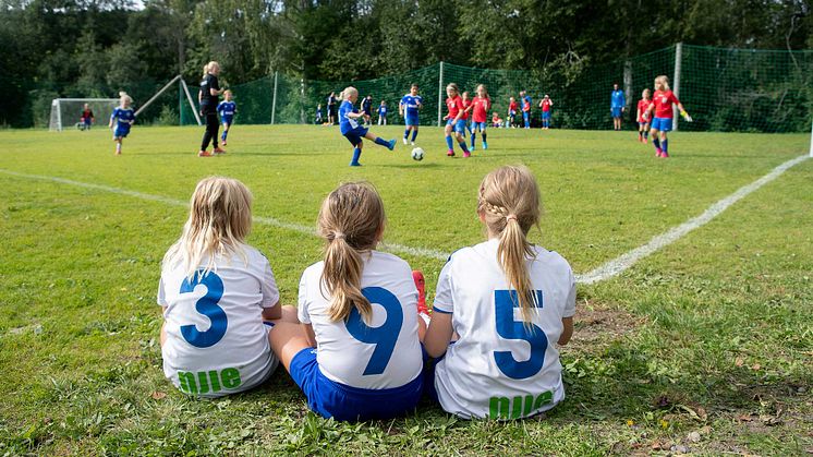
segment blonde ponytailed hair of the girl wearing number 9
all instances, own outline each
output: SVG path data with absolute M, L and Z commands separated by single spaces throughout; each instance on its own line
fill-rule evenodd
M 318 233 L 325 238 L 321 286 L 330 296 L 331 321 L 347 320 L 353 306 L 369 322 L 373 308 L 361 291 L 362 254 L 375 249 L 384 232 L 384 202 L 373 185 L 339 185 L 319 209 Z

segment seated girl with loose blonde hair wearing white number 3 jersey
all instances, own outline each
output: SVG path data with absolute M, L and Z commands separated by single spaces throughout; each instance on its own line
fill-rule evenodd
M 268 260 L 244 243 L 252 195 L 238 180 L 197 183 L 158 286 L 163 373 L 181 392 L 220 397 L 262 383 L 278 364 L 264 320 L 296 322 L 279 302 Z

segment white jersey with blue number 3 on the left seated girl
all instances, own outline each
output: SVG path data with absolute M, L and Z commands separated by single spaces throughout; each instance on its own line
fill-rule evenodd
M 161 272 L 158 304 L 167 340 L 163 373 L 182 392 L 219 397 L 246 390 L 277 366 L 263 309 L 279 301 L 268 260 L 256 249 L 218 257 L 217 267 L 192 281 L 181 265 Z M 204 260 L 202 265 L 206 265 Z

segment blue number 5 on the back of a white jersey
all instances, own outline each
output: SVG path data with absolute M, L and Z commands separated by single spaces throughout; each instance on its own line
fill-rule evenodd
M 537 306 L 542 308 L 542 291 L 535 290 Z M 511 351 L 494 351 L 497 368 L 506 376 L 514 380 L 531 377 L 542 370 L 548 339 L 542 328 L 534 324 L 517 322 L 513 309 L 519 308 L 515 290 L 495 290 L 494 304 L 497 310 L 497 334 L 506 339 L 522 339 L 531 345 L 531 357 L 522 362 L 513 358 Z

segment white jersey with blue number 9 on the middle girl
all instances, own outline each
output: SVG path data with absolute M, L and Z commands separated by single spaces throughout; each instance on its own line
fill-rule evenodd
M 372 251 L 362 256 L 362 293 L 373 305 L 369 325 L 355 309 L 347 321 L 330 320 L 320 279 L 324 262 L 302 274 L 299 317 L 313 326 L 316 361 L 326 377 L 357 388 L 400 387 L 423 370 L 412 269 L 392 254 Z

